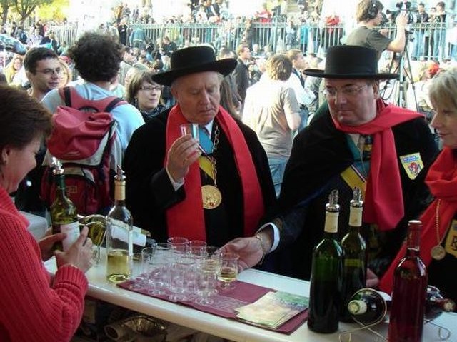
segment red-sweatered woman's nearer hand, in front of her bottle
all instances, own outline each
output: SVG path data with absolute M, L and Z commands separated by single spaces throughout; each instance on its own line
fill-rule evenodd
M 81 234 L 76 241 L 71 245 L 68 251 L 55 251 L 57 268 L 66 264 L 76 266 L 84 273 L 92 266 L 92 241 L 87 237 L 89 228 L 84 226 Z

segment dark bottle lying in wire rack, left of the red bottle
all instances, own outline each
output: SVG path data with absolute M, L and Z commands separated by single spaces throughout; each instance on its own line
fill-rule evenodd
M 388 309 L 388 301 L 383 294 L 373 288 L 361 288 L 348 302 L 347 311 L 354 321 L 369 326 L 383 321 Z M 388 298 L 390 299 L 390 298 Z

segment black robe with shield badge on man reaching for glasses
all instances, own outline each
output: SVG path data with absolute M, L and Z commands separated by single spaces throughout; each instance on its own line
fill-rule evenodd
M 392 131 L 397 156 L 419 152 L 424 169 L 436 157 L 438 149 L 425 119 L 406 121 L 393 126 Z M 312 250 L 323 237 L 325 206 L 333 188 L 339 191 L 341 206 L 338 236 L 341 239 L 347 233 L 352 189 L 343 181 L 340 173 L 354 161 L 348 139 L 347 134 L 336 129 L 328 111 L 296 136 L 278 201 L 281 215 L 276 222 L 281 229 L 280 248 L 292 243 L 292 246 L 279 252 L 282 258 L 279 273 L 310 278 Z M 368 225 L 362 229 L 368 248 L 378 249 L 376 258 L 368 263 L 378 273 L 386 271 L 388 263 L 396 256 L 406 233 L 408 219 L 417 218 L 430 200 L 428 188 L 423 183 L 426 170 L 423 169 L 416 180 L 411 180 L 399 158 L 398 169 L 403 203 L 392 203 L 392 206 L 403 205 L 404 218 L 392 231 L 371 231 Z M 380 244 L 372 246 L 374 241 Z

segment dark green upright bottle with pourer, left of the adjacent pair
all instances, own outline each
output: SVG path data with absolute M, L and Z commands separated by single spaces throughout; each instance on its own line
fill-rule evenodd
M 308 328 L 317 333 L 338 330 L 343 273 L 343 249 L 337 240 L 339 210 L 338 190 L 333 190 L 326 205 L 323 240 L 313 249 L 311 265 Z

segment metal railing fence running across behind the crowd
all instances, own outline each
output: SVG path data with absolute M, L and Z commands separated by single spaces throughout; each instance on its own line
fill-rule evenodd
M 384 26 L 388 35 L 396 35 L 396 26 Z M 177 46 L 193 44 L 211 44 L 218 51 L 226 46 L 233 51 L 236 46 L 246 42 L 250 46 L 268 45 L 271 51 L 282 52 L 288 49 L 301 49 L 325 56 L 328 46 L 341 44 L 346 36 L 346 27 L 303 24 L 291 31 L 283 21 L 268 24 L 254 23 L 251 28 L 246 24 L 231 21 L 219 24 L 132 24 L 128 37 L 134 29 L 143 29 L 149 41 L 156 45 L 157 39 L 168 36 Z M 84 31 L 77 25 L 53 26 L 59 41 L 66 41 L 69 46 L 76 40 L 77 34 Z M 457 46 L 446 42 L 446 23 L 413 24 L 408 27 L 408 52 L 411 59 L 447 59 L 457 56 Z

